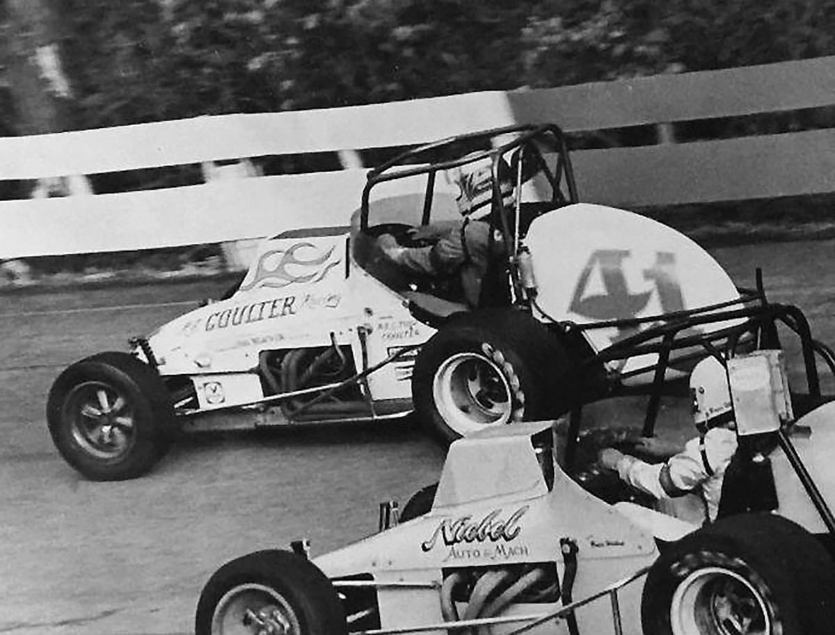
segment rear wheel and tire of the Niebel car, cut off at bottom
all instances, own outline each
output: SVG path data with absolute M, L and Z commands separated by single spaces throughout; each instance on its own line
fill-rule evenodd
M 641 622 L 645 635 L 824 635 L 835 624 L 835 563 L 783 517 L 728 517 L 659 557 Z

